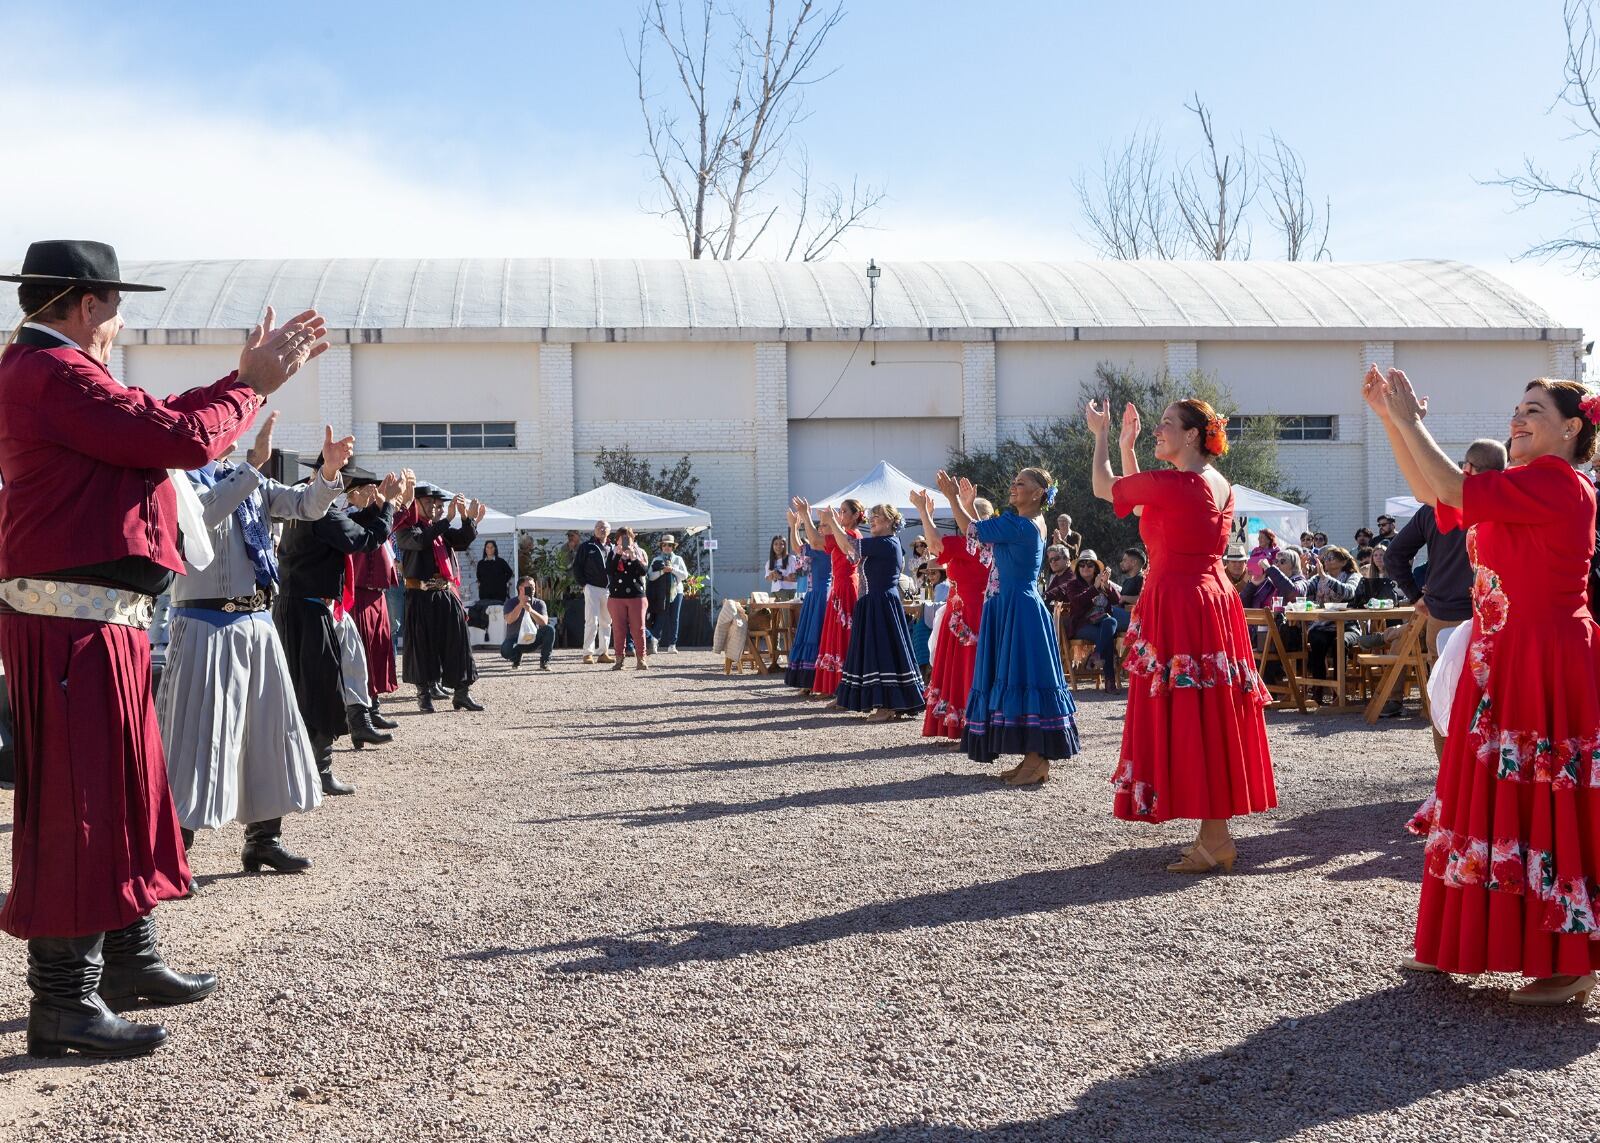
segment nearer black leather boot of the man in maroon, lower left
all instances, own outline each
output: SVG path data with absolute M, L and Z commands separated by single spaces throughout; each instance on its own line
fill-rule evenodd
M 67 1052 L 130 1057 L 166 1042 L 160 1025 L 136 1025 L 106 1007 L 101 941 L 93 936 L 35 936 L 27 943 L 27 1053 L 56 1060 Z

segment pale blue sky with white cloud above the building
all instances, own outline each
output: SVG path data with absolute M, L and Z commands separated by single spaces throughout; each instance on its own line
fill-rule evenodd
M 682 256 L 637 29 L 637 0 L 0 0 L 0 258 Z M 1192 155 L 1198 93 L 1229 139 L 1302 154 L 1338 259 L 1469 261 L 1600 330 L 1600 285 L 1514 263 L 1573 219 L 1482 184 L 1587 160 L 1563 51 L 1560 0 L 846 0 L 797 141 L 886 192 L 837 258 L 1093 258 L 1074 178 L 1138 130 Z

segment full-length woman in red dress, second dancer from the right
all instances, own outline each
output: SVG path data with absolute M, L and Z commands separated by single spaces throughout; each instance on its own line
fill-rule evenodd
M 1144 592 L 1128 626 L 1128 716 L 1112 786 L 1126 821 L 1198 818 L 1200 834 L 1173 872 L 1232 871 L 1229 818 L 1278 804 L 1256 674 L 1238 592 L 1222 572 L 1234 490 L 1211 467 L 1227 453 L 1227 423 L 1203 400 L 1181 400 L 1155 427 L 1155 458 L 1171 469 L 1139 472 L 1139 413 L 1122 415 L 1122 469 L 1112 474 L 1110 413 L 1090 402 L 1094 495 L 1117 515 L 1139 514 L 1150 552 Z

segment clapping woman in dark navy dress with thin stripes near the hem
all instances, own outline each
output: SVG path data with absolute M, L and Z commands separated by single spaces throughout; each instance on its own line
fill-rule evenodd
M 822 509 L 822 523 L 834 539 L 845 546 L 851 560 L 867 573 L 867 589 L 856 600 L 850 620 L 850 650 L 834 701 L 846 711 L 872 711 L 869 722 L 893 722 L 923 708 L 922 669 L 910 645 L 910 620 L 899 594 L 899 573 L 906 552 L 899 546 L 904 519 L 891 504 L 877 504 L 869 512 L 870 536 L 851 549 L 850 538 L 830 509 Z

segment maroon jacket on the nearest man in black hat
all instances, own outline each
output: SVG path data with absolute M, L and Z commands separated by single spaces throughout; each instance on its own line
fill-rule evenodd
M 138 555 L 182 575 L 166 469 L 214 461 L 262 399 L 229 373 L 157 400 L 22 330 L 0 357 L 0 580 Z

